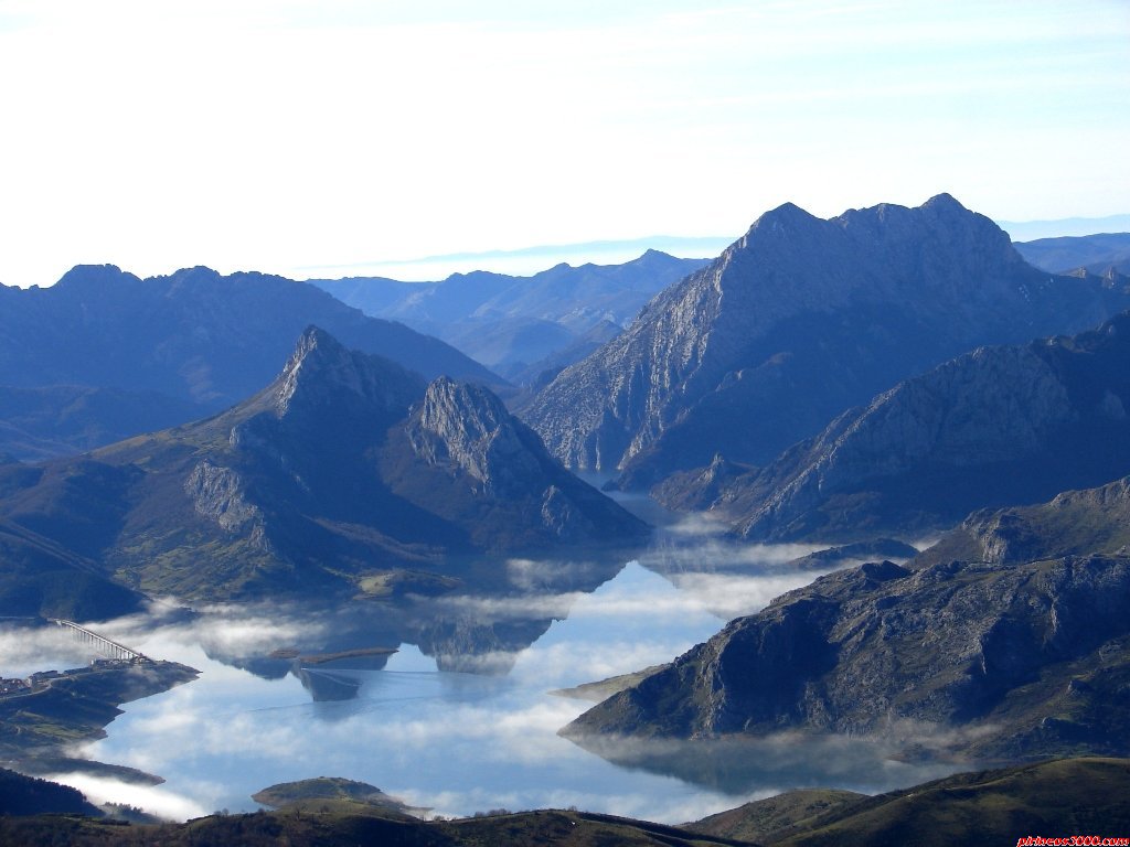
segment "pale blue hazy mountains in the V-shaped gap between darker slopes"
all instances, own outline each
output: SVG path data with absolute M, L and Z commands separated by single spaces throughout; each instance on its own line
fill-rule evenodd
M 442 338 L 516 383 L 572 364 L 600 328 L 631 323 L 659 290 L 707 263 L 649 250 L 624 264 L 558 264 L 532 277 L 476 271 L 442 282 L 310 280 L 365 314 Z M 557 364 L 560 363 L 560 364 Z

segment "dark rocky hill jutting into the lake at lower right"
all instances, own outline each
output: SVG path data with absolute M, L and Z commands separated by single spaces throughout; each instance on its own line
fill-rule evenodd
M 1124 557 L 863 565 L 730 622 L 566 733 L 801 730 L 1000 758 L 1124 756 L 1128 603 Z

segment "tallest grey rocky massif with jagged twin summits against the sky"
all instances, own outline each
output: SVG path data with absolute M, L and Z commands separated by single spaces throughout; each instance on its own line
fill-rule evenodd
M 820 220 L 786 204 L 664 290 L 523 412 L 576 468 L 650 486 L 715 453 L 763 464 L 899 379 L 979 344 L 1078 331 L 1130 305 L 1049 277 L 948 195 Z

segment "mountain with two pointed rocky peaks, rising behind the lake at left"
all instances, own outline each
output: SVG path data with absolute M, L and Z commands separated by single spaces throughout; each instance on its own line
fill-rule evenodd
M 270 385 L 226 412 L 0 465 L 0 521 L 75 573 L 93 564 L 103 580 L 195 600 L 364 592 L 405 568 L 458 573 L 459 557 L 646 531 L 487 388 L 428 384 L 313 328 Z M 8 604 L 19 597 L 35 600 Z

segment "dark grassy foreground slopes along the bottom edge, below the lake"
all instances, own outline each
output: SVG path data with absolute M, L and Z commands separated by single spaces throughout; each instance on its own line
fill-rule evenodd
M 365 803 L 323 800 L 297 813 L 285 810 L 214 814 L 186 823 L 131 827 L 105 826 L 78 817 L 0 817 L 0 838 L 10 847 L 61 842 L 76 847 L 141 844 L 949 847 L 982 841 L 1014 844 L 1026 835 L 1124 832 L 1130 827 L 1124 802 L 1128 791 L 1127 760 L 1067 759 L 958 774 L 875 797 L 834 791 L 788 792 L 683 827 L 572 810 L 519 813 L 498 810 L 475 818 L 421 821 Z

